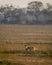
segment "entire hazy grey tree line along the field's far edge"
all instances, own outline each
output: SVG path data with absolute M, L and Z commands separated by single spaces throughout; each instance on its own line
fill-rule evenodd
M 44 7 L 42 2 L 32 1 L 26 8 L 1 6 L 0 24 L 52 24 L 52 5 L 46 3 Z

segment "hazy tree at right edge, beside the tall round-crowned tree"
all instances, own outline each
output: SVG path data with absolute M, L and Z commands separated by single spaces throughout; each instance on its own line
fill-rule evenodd
M 50 3 L 46 3 L 46 8 L 42 11 L 46 17 L 46 23 L 52 24 L 52 5 Z

